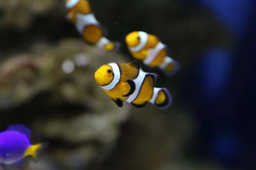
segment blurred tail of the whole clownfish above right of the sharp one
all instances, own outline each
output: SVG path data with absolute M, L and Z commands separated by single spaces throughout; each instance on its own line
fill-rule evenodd
M 163 70 L 168 77 L 171 77 L 180 70 L 180 64 L 171 57 L 166 56 L 159 68 Z

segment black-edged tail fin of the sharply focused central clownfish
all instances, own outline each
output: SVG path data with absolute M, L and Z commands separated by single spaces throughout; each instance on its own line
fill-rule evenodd
M 160 109 L 168 109 L 172 104 L 172 97 L 166 88 L 154 87 L 154 92 L 149 102 Z

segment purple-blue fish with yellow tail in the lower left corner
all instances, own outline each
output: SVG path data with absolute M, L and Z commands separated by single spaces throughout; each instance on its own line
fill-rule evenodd
M 29 157 L 36 162 L 45 144 L 32 145 L 31 130 L 21 124 L 9 126 L 0 133 L 0 165 L 4 170 L 25 169 Z

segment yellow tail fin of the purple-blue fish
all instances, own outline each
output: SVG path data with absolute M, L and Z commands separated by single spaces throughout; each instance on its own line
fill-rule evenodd
M 32 156 L 34 162 L 38 161 L 38 158 L 40 156 L 40 153 L 43 149 L 45 149 L 48 146 L 48 143 L 40 143 L 36 145 L 31 145 L 27 148 L 25 151 L 24 157 L 26 156 Z

